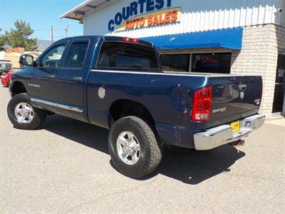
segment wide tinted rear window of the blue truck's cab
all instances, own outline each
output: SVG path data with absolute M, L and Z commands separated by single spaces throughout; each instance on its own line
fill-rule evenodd
M 104 42 L 97 62 L 98 69 L 158 70 L 155 51 L 150 46 L 123 42 Z

